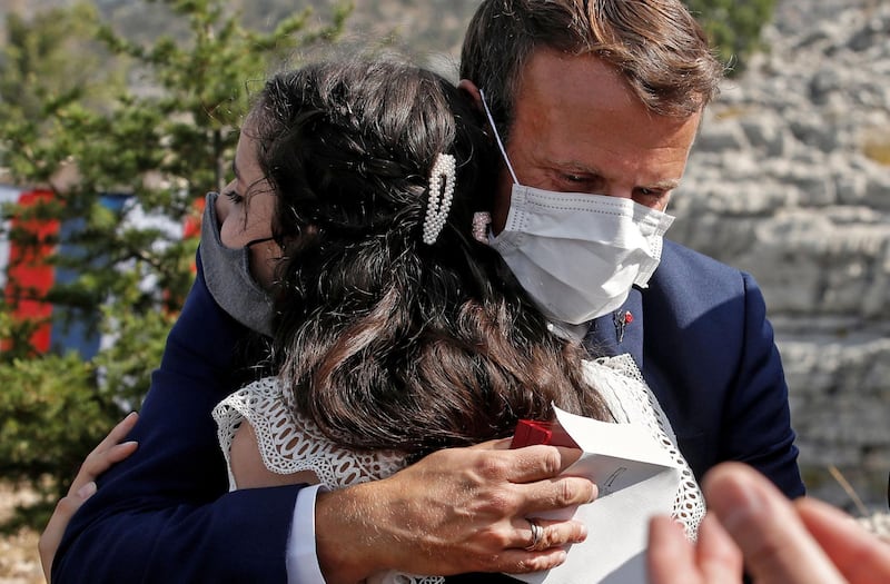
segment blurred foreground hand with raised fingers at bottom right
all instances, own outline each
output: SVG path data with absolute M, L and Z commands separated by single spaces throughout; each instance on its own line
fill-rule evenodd
M 652 584 L 741 582 L 742 556 L 759 584 L 890 582 L 890 545 L 825 503 L 791 503 L 739 463 L 714 467 L 703 491 L 710 511 L 695 547 L 666 517 L 653 519 Z

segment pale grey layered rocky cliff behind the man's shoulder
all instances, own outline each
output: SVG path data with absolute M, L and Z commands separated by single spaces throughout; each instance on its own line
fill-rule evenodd
M 765 40 L 709 109 L 670 236 L 760 283 L 811 493 L 850 503 L 834 465 L 886 508 L 890 2 L 781 1 Z

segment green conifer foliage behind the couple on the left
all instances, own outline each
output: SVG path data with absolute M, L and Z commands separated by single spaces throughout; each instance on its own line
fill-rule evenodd
M 167 11 L 175 33 L 136 42 L 78 6 L 28 22 L 9 17 L 0 52 L 0 160 L 16 184 L 53 194 L 3 215 L 78 221 L 67 239 L 78 253 L 49 258 L 78 276 L 43 299 L 53 326 L 65 326 L 58 314 L 101 315 L 97 327 L 113 340 L 89 362 L 38 355 L 28 340 L 37 324 L 10 316 L 20 298 L 7 295 L 0 306 L 0 475 L 44 487 L 50 501 L 138 406 L 160 362 L 197 248 L 164 225 L 181 226 L 196 200 L 225 185 L 251 82 L 299 49 L 334 41 L 350 10 L 320 23 L 299 10 L 258 31 L 225 0 L 144 3 Z M 116 211 L 99 194 L 130 197 Z M 136 214 L 162 225 L 134 221 Z M 6 236 L 28 244 L 28 234 Z

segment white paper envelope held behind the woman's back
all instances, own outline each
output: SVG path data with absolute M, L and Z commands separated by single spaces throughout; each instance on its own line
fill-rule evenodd
M 532 584 L 645 583 L 649 519 L 673 511 L 680 468 L 646 427 L 555 409 L 558 423 L 584 451 L 563 474 L 589 477 L 600 496 L 576 508 L 541 514 L 544 518 L 574 516 L 587 526 L 587 538 L 571 546 L 564 564 L 511 575 Z

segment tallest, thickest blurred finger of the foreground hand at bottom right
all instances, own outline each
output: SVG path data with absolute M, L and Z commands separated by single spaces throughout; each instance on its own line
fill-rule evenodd
M 710 513 L 720 519 L 759 584 L 841 584 L 841 574 L 809 534 L 794 507 L 751 467 L 724 463 L 703 481 Z

